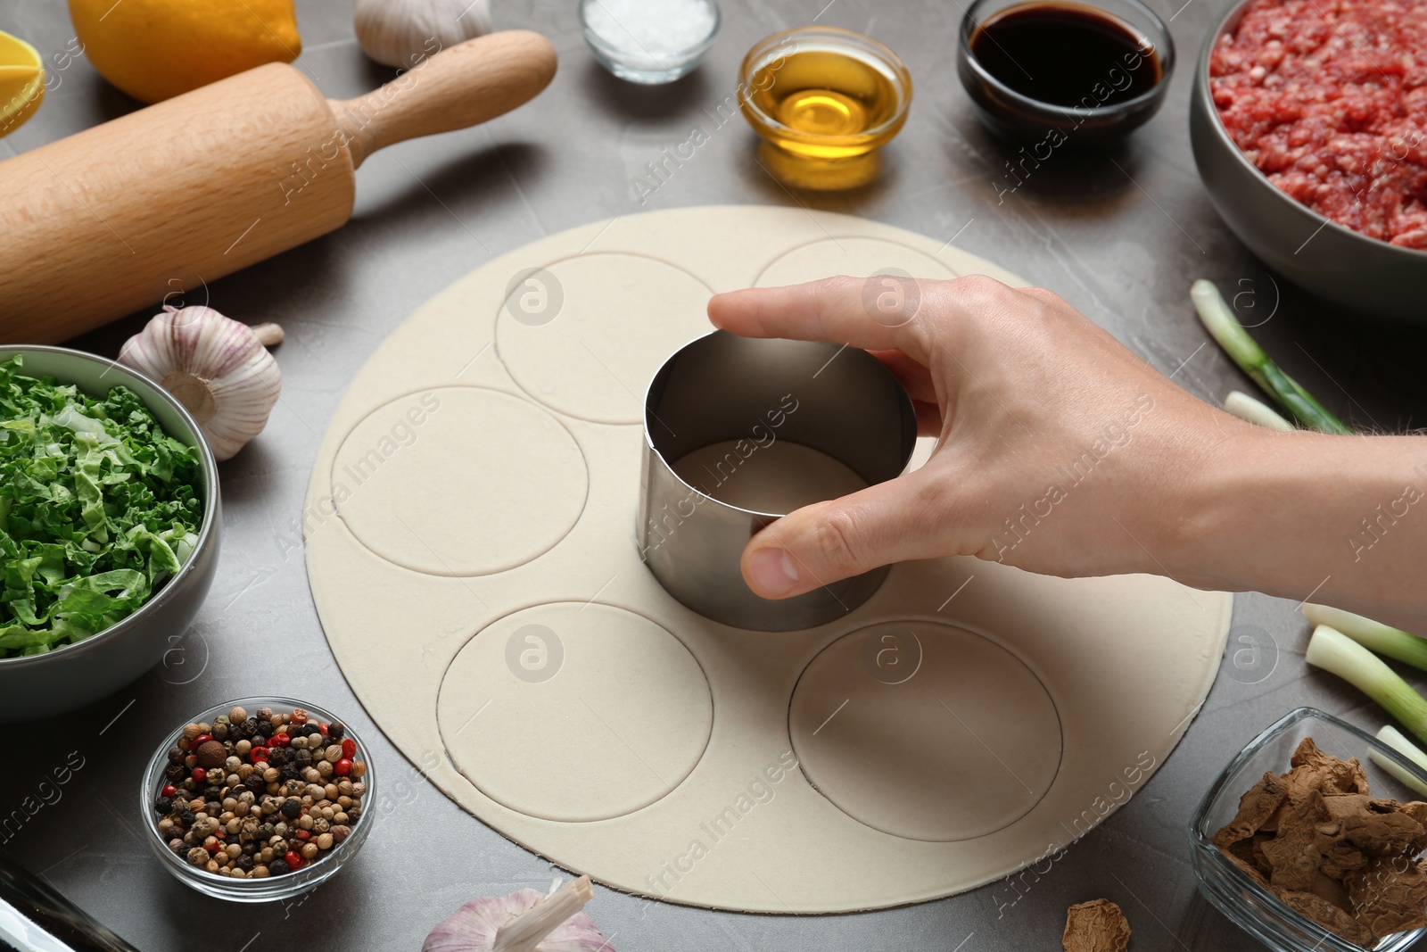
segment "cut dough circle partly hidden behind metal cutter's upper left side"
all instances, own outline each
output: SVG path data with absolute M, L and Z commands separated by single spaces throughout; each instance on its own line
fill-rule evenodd
M 509 298 L 502 301 L 495 321 L 501 363 L 551 410 L 589 422 L 642 421 L 644 391 L 659 364 L 711 330 L 705 308 L 712 288 L 642 254 L 582 254 L 545 271 L 559 283 L 559 313 L 542 324 L 524 323 Z

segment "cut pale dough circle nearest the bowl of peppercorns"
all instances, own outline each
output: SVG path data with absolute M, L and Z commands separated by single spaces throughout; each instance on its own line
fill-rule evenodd
M 699 662 L 662 627 L 561 602 L 471 638 L 441 681 L 437 722 L 482 794 L 581 822 L 632 814 L 684 782 L 708 746 L 714 699 Z

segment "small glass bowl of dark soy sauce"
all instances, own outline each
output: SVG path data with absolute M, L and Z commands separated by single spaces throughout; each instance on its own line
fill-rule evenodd
M 1169 27 L 1139 0 L 976 0 L 956 50 L 982 121 L 1039 160 L 1143 126 L 1173 69 Z

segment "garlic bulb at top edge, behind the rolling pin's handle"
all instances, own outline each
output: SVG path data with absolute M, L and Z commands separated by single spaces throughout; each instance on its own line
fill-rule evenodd
M 387 66 L 410 70 L 491 30 L 491 0 L 357 0 L 357 43 Z

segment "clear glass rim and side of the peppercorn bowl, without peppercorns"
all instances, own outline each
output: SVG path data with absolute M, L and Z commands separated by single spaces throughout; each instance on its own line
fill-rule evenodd
M 250 714 L 258 708 L 273 708 L 274 711 L 293 708 L 303 708 L 311 715 L 313 721 L 341 721 L 341 718 L 332 715 L 330 711 L 307 704 L 304 701 L 295 701 L 293 698 L 241 698 L 237 701 L 224 701 L 223 704 L 214 705 L 205 711 L 200 711 L 187 721 L 178 724 L 158 745 L 154 751 L 153 758 L 148 761 L 148 766 L 144 769 L 144 776 L 138 788 L 138 819 L 144 826 L 144 838 L 148 842 L 150 849 L 158 856 L 158 862 L 163 864 L 176 879 L 184 885 L 197 889 L 201 893 L 215 896 L 218 899 L 228 899 L 231 902 L 271 902 L 274 899 L 290 899 L 295 895 L 307 892 L 317 883 L 328 879 L 332 873 L 342 868 L 361 845 L 367 841 L 367 834 L 371 832 L 374 815 L 368 815 L 368 809 L 377 804 L 377 771 L 371 762 L 371 748 L 362 744 L 361 738 L 351 729 L 351 726 L 342 721 L 342 726 L 347 729 L 345 736 L 351 738 L 357 744 L 357 756 L 360 756 L 367 764 L 367 774 L 361 778 L 367 785 L 367 792 L 362 796 L 364 811 L 362 815 L 351 824 L 351 834 L 340 844 L 335 844 L 331 849 L 320 855 L 317 859 L 304 864 L 295 872 L 287 872 L 280 876 L 265 876 L 263 879 L 234 879 L 233 876 L 223 876 L 215 872 L 208 872 L 207 869 L 198 869 L 197 866 L 190 866 L 183 856 L 178 856 L 171 849 L 163 836 L 158 835 L 158 816 L 154 814 L 154 798 L 158 796 L 158 791 L 163 788 L 164 768 L 168 766 L 168 751 L 178 742 L 183 736 L 183 729 L 188 724 L 197 722 L 213 722 L 213 718 L 220 714 L 227 714 L 234 707 L 241 705 Z

